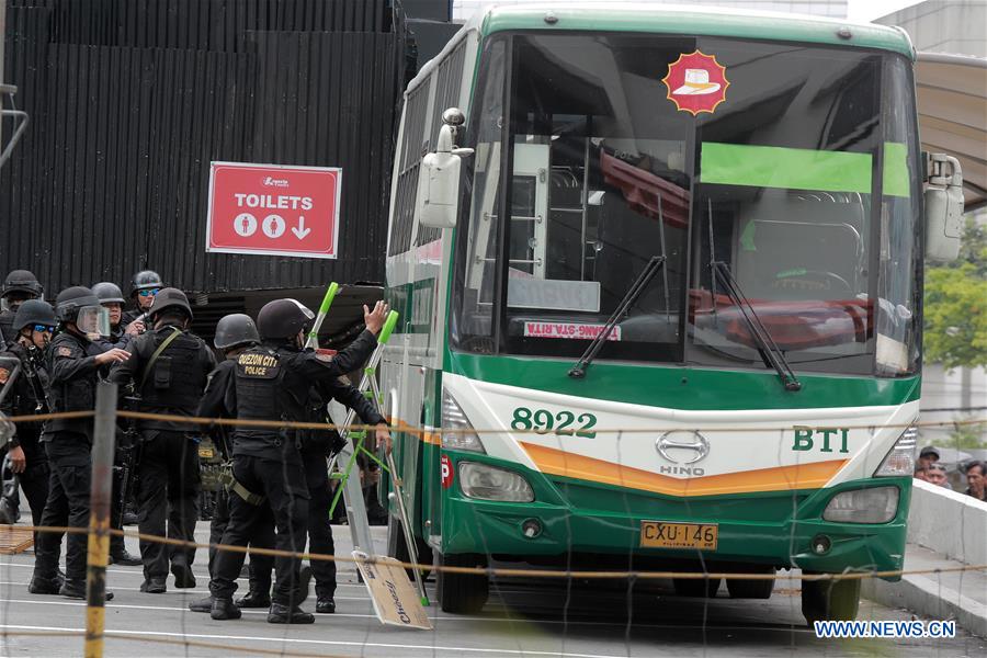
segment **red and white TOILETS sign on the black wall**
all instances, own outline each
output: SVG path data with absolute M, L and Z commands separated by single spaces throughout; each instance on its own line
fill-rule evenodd
M 213 162 L 206 251 L 337 258 L 342 169 Z

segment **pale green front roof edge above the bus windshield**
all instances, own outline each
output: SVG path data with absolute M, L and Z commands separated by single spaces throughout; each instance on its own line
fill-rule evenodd
M 545 15 L 549 12 L 556 19 L 553 23 L 545 21 Z M 508 30 L 699 34 L 880 48 L 915 59 L 911 39 L 899 27 L 804 14 L 654 2 L 574 0 L 565 4 L 552 2 L 494 4 L 476 12 L 464 27 L 466 31 L 479 30 L 484 35 Z M 849 29 L 850 38 L 840 36 L 839 32 L 843 27 Z

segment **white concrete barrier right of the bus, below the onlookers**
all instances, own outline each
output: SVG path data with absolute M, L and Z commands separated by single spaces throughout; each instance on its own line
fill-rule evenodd
M 949 559 L 987 565 L 987 502 L 922 480 L 914 485 L 908 543 Z

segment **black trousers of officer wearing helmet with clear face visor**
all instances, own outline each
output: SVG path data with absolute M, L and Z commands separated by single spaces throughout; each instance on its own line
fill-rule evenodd
M 89 491 L 92 461 L 89 440 L 84 434 L 58 432 L 45 442 L 48 466 L 48 500 L 41 525 L 89 526 Z M 34 549 L 34 572 L 53 578 L 58 571 L 61 534 L 41 533 Z M 72 533 L 66 538 L 65 576 L 69 580 L 86 580 L 87 535 Z

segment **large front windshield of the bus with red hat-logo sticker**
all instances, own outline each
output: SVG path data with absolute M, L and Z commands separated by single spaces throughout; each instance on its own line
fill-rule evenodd
M 454 345 L 578 356 L 663 257 L 598 361 L 763 368 L 718 263 L 796 371 L 915 371 L 903 57 L 578 33 L 501 36 L 484 57 Z

